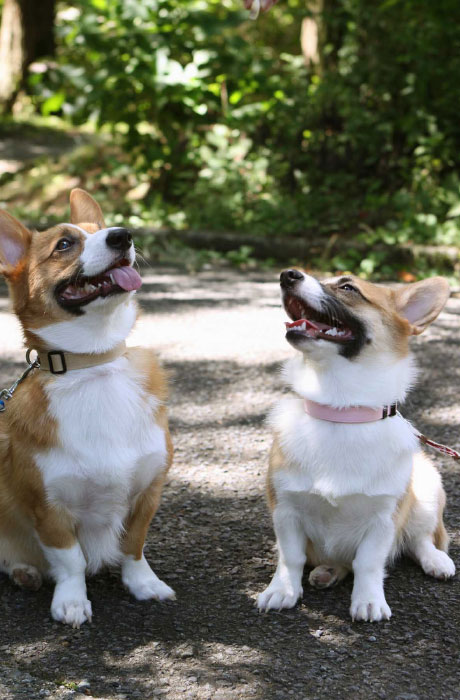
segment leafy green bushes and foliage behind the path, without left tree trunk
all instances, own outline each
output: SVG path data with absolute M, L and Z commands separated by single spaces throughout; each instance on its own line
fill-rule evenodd
M 139 222 L 460 244 L 456 0 L 323 0 L 315 64 L 303 0 L 255 23 L 239 0 L 62 7 L 34 100 L 111 134 L 125 156 L 101 188 L 129 181 Z M 390 264 L 352 249 L 335 263 Z

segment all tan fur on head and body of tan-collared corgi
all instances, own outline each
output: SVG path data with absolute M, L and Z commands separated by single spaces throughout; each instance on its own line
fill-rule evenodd
M 71 210 L 72 222 L 78 223 L 86 232 L 95 233 L 104 227 L 99 205 L 83 190 L 72 192 Z M 86 223 L 79 223 L 81 221 Z M 75 274 L 83 235 L 78 230 L 66 228 L 65 224 L 42 233 L 30 232 L 2 211 L 0 227 L 3 230 L 7 227 L 12 237 L 25 242 L 26 254 L 15 265 L 9 265 L 2 259 L 0 248 L 0 272 L 7 280 L 13 309 L 22 324 L 27 346 L 40 349 L 42 342 L 33 330 L 69 320 L 69 314 L 60 308 L 54 298 L 54 289 L 60 280 Z M 56 254 L 57 241 L 66 235 L 71 235 L 76 245 L 64 255 Z M 163 472 L 137 497 L 125 523 L 123 551 L 139 559 L 148 526 L 158 508 L 166 473 L 172 462 L 173 448 L 164 405 L 167 399 L 166 373 L 150 350 L 130 348 L 126 355 L 138 371 L 146 394 L 160 402 L 155 420 L 165 433 L 168 453 Z M 3 563 L 4 568 L 22 562 L 47 573 L 48 565 L 36 534 L 48 547 L 69 548 L 76 542 L 72 517 L 65 508 L 58 508 L 47 501 L 41 472 L 34 460 L 34 455 L 58 444 L 57 426 L 49 414 L 45 393 L 46 384 L 52 381 L 49 374 L 35 370 L 19 385 L 13 399 L 8 402 L 7 410 L 1 414 L 0 538 L 4 560 L 0 564 Z M 27 585 L 26 569 L 16 569 L 11 575 Z

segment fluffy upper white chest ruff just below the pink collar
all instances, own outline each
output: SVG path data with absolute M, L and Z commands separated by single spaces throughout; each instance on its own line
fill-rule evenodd
M 400 416 L 348 425 L 308 416 L 302 399 L 286 398 L 271 416 L 289 469 L 277 472 L 277 490 L 313 493 L 334 503 L 353 495 L 404 493 L 416 437 Z

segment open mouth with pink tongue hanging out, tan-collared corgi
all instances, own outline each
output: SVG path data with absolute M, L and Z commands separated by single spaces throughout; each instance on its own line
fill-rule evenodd
M 89 304 L 99 297 L 131 292 L 142 284 L 139 273 L 126 258 L 121 258 L 105 272 L 94 277 L 77 274 L 56 289 L 56 298 L 61 306 L 76 307 Z

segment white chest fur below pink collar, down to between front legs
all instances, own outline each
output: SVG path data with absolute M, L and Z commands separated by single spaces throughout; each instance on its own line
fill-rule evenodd
M 412 471 L 412 427 L 399 416 L 318 420 L 297 398 L 281 401 L 271 422 L 288 461 L 273 474 L 278 509 L 298 518 L 322 561 L 350 564 L 370 523 L 391 523 Z

